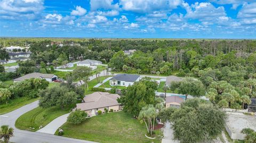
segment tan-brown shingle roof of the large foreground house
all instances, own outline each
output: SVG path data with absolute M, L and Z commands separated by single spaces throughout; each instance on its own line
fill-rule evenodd
M 84 97 L 84 103 L 76 104 L 82 111 L 108 106 L 121 105 L 117 102 L 118 94 L 109 94 L 108 92 L 94 92 Z

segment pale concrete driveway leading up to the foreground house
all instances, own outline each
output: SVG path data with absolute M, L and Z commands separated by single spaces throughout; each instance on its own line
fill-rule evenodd
M 61 127 L 61 125 L 67 121 L 69 114 L 70 113 L 57 117 L 52 122 L 50 122 L 45 127 L 43 127 L 42 129 L 40 129 L 36 132 L 54 134 L 55 131 L 57 131 Z

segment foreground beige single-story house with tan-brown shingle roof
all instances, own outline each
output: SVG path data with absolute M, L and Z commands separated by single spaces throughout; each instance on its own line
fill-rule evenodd
M 98 114 L 98 111 L 105 112 L 105 108 L 109 110 L 121 110 L 121 104 L 117 102 L 118 94 L 109 94 L 108 92 L 94 92 L 83 98 L 83 103 L 76 104 L 76 109 L 85 111 L 88 116 Z

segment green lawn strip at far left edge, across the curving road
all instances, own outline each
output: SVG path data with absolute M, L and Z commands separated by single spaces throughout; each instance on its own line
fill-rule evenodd
M 13 100 L 10 100 L 7 104 L 0 105 L 0 115 L 16 110 L 24 105 L 34 102 L 39 98 L 28 98 L 28 97 L 20 97 Z

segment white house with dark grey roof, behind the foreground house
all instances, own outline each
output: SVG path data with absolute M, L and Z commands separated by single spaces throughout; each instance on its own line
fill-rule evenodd
M 137 74 L 117 74 L 109 80 L 110 86 L 131 86 L 135 81 L 140 80 L 140 75 Z

